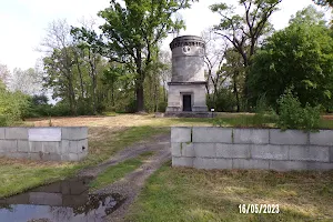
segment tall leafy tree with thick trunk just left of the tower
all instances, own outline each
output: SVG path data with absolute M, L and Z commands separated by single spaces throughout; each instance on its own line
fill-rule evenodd
M 158 43 L 171 30 L 183 28 L 183 21 L 172 20 L 180 9 L 190 7 L 191 0 L 111 0 L 110 7 L 100 11 L 105 20 L 100 27 L 102 34 L 84 28 L 82 40 L 93 46 L 110 61 L 123 63 L 134 73 L 137 111 L 144 110 L 143 83 L 157 53 Z

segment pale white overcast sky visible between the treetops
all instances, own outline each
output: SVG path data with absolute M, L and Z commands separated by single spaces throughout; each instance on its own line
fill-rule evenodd
M 186 30 L 181 34 L 198 34 L 219 23 L 219 16 L 209 10 L 215 2 L 236 3 L 238 0 L 200 0 L 191 9 L 181 12 Z M 36 52 L 46 36 L 48 24 L 57 19 L 67 19 L 75 26 L 78 20 L 97 18 L 97 12 L 107 8 L 109 0 L 1 0 L 0 3 L 0 63 L 13 68 L 33 68 L 42 54 Z M 283 0 L 279 12 L 271 19 L 275 29 L 287 24 L 292 14 L 313 4 L 312 0 Z M 319 8 L 320 9 L 320 8 Z M 172 37 L 164 41 L 168 49 Z

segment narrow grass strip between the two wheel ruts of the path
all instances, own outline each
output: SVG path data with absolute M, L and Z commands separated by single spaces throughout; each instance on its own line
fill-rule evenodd
M 138 169 L 140 165 L 143 164 L 144 160 L 147 160 L 151 155 L 153 155 L 153 152 L 143 152 L 138 158 L 125 160 L 117 165 L 108 168 L 89 184 L 90 189 L 92 191 L 100 190 L 107 186 L 108 184 L 112 184 L 113 182 L 125 176 L 125 174 Z

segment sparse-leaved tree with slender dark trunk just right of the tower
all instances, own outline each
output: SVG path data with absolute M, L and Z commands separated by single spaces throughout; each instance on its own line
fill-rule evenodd
M 234 7 L 226 3 L 211 6 L 211 10 L 222 17 L 220 24 L 214 26 L 215 33 L 225 38 L 241 54 L 245 68 L 251 64 L 260 38 L 271 32 L 269 19 L 278 10 L 280 2 L 281 0 L 240 0 L 239 4 L 245 11 L 243 16 L 236 14 Z M 249 97 L 248 75 L 246 72 L 245 98 Z

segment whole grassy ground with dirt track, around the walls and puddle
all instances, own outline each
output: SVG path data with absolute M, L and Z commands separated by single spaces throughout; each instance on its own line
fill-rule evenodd
M 251 114 L 222 114 L 224 125 L 253 124 Z M 97 176 L 91 192 L 128 196 L 108 221 L 332 221 L 333 172 L 204 171 L 171 168 L 170 125 L 212 125 L 213 119 L 153 115 L 52 118 L 52 125 L 88 125 L 81 163 L 0 159 L 0 196 L 79 174 Z M 264 124 L 271 124 L 265 120 Z M 332 115 L 322 125 L 333 128 Z M 26 125 L 47 127 L 49 119 Z M 29 180 L 26 180 L 26 178 Z M 240 214 L 239 204 L 279 204 L 281 213 Z

